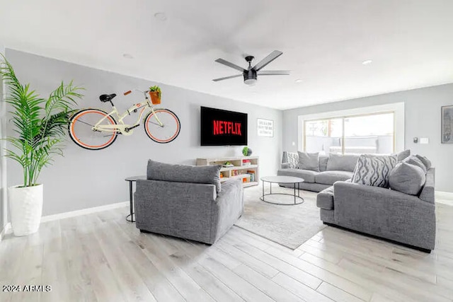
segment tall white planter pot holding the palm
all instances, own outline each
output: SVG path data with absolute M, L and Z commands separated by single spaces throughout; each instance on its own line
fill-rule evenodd
M 26 236 L 38 231 L 42 215 L 42 187 L 8 187 L 11 226 L 15 236 Z

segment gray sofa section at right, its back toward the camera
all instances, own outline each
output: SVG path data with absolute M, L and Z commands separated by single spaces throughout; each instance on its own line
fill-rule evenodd
M 411 163 L 411 159 L 407 162 Z M 351 180 L 335 182 L 317 195 L 321 220 L 328 225 L 430 252 L 435 247 L 436 233 L 435 169 L 428 167 L 425 172 L 417 168 L 423 174 L 420 187 L 420 182 L 415 180 L 417 175 L 397 174 L 405 166 L 407 163 L 398 163 L 392 170 L 390 185 L 396 178 L 394 187 L 399 190 L 404 187 L 410 194 L 386 187 L 361 185 Z M 415 190 L 411 188 L 414 182 L 418 185 Z

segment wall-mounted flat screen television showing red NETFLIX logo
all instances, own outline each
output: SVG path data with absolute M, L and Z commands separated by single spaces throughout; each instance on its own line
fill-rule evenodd
M 245 146 L 247 114 L 201 107 L 202 146 Z

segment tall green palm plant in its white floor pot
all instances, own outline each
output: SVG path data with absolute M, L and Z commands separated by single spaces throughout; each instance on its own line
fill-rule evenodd
M 40 98 L 30 84 L 21 84 L 13 66 L 1 57 L 0 77 L 6 84 L 6 103 L 15 132 L 6 138 L 6 157 L 23 169 L 23 184 L 8 187 L 8 205 L 14 235 L 25 236 L 40 226 L 43 185 L 38 183 L 38 176 L 42 168 L 52 164 L 54 156 L 62 155 L 62 142 L 74 112 L 71 105 L 82 97 L 79 91 L 83 88 L 62 82 L 49 98 Z

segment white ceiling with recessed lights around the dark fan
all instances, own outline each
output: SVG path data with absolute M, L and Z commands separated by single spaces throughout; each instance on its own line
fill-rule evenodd
M 452 16 L 451 0 L 0 0 L 0 42 L 287 109 L 453 82 Z M 215 59 L 246 67 L 273 50 L 263 70 L 290 76 L 212 81 L 238 74 Z

